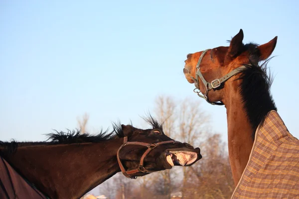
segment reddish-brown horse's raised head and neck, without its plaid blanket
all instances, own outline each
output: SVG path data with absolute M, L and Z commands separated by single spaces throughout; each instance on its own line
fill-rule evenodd
M 183 69 L 187 81 L 195 83 L 200 97 L 226 107 L 229 159 L 235 185 L 248 163 L 257 127 L 269 111 L 277 110 L 270 94 L 272 81 L 266 73 L 267 61 L 258 66 L 274 51 L 277 36 L 263 45 L 244 45 L 243 37 L 241 29 L 228 47 L 188 54 Z

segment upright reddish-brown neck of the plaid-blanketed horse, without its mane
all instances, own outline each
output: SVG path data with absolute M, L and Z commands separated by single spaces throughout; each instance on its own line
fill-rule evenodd
M 223 103 L 227 113 L 228 152 L 235 185 L 238 184 L 253 147 L 252 125 L 247 116 L 240 92 L 234 84 L 227 84 Z

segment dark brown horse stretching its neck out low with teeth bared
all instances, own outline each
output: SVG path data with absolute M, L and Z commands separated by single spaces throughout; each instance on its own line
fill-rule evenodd
M 151 116 L 146 120 L 152 128 L 114 123 L 112 132 L 98 135 L 68 131 L 47 134 L 44 142 L 0 142 L 0 198 L 78 199 L 118 172 L 135 179 L 201 159 L 199 148 L 169 138 Z M 23 179 L 35 195 L 13 187 Z

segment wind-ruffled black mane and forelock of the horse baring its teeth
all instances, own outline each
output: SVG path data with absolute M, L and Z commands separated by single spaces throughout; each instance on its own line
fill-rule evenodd
M 144 119 L 152 126 L 152 128 L 158 128 L 162 130 L 162 124 L 159 124 L 151 115 Z M 89 133 L 82 134 L 78 129 L 72 131 L 68 130 L 67 132 L 56 131 L 54 133 L 48 133 L 45 135 L 48 137 L 48 139 L 42 142 L 16 142 L 15 140 L 12 140 L 11 142 L 0 141 L 0 155 L 3 153 L 13 153 L 16 151 L 17 147 L 20 146 L 99 143 L 115 139 L 116 137 L 122 138 L 124 137 L 124 132 L 121 123 L 118 122 L 113 123 L 113 130 L 111 132 L 108 132 L 108 129 L 106 131 L 101 130 L 101 132 L 96 135 L 91 135 Z

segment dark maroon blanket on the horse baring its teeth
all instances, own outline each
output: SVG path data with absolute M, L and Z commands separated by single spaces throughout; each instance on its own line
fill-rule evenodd
M 0 199 L 47 199 L 0 157 Z

